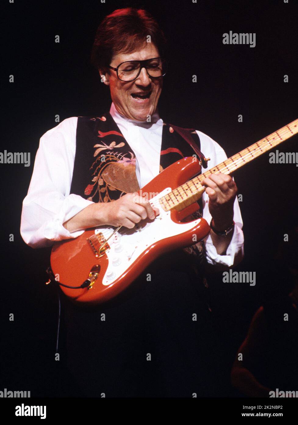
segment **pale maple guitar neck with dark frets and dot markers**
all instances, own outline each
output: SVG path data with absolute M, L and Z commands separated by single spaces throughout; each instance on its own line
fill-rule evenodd
M 210 174 L 231 174 L 233 171 L 238 170 L 238 168 L 247 164 L 248 162 L 256 159 L 258 156 L 277 146 L 278 144 L 284 142 L 290 137 L 298 133 L 298 119 L 290 122 L 290 124 L 285 125 L 264 139 L 259 140 L 247 147 L 246 149 L 241 150 L 236 153 L 236 155 L 231 156 L 231 158 L 226 159 L 226 161 L 221 162 L 212 169 L 206 171 L 206 173 L 201 174 L 198 177 L 193 178 L 192 180 L 187 181 L 187 183 L 182 184 L 177 187 L 177 189 L 172 190 L 172 192 L 160 198 L 159 203 L 165 211 L 176 210 L 181 211 L 189 205 L 193 204 L 195 201 L 201 198 L 206 187 L 201 184 L 204 178 L 210 176 Z

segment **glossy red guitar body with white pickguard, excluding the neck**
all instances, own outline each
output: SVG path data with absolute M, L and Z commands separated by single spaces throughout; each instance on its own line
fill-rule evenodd
M 134 229 L 122 227 L 109 239 L 104 253 L 99 255 L 94 248 L 101 246 L 101 242 L 114 232 L 111 226 L 87 229 L 78 238 L 56 243 L 50 261 L 59 282 L 80 286 L 89 278 L 90 271 L 96 270 L 89 287 L 70 289 L 60 286 L 62 291 L 78 303 L 107 301 L 122 292 L 159 255 L 191 246 L 208 235 L 209 225 L 203 218 L 186 220 L 198 210 L 197 202 L 179 212 L 164 211 L 159 205 L 160 197 L 184 184 L 200 170 L 198 161 L 192 157 L 184 158 L 153 178 L 139 194 L 147 196 L 150 203 L 159 208 L 159 216 L 154 220 L 141 221 Z

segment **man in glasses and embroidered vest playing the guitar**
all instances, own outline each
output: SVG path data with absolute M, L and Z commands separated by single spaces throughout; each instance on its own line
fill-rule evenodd
M 144 10 L 118 9 L 100 24 L 92 62 L 110 89 L 111 107 L 103 115 L 64 119 L 40 139 L 23 201 L 21 234 L 28 245 L 51 246 L 101 225 L 133 229 L 155 220 L 159 208 L 137 195 L 139 188 L 200 150 L 209 158 L 206 170 L 226 160 L 206 134 L 188 131 L 194 150 L 181 136 L 185 129 L 178 133 L 160 118 L 164 45 Z M 233 178 L 212 173 L 202 184 L 206 191 L 196 214 L 211 226 L 203 241 L 161 256 L 105 304 L 84 309 L 63 297 L 67 366 L 79 395 L 217 395 L 216 334 L 204 270 L 237 265 L 244 239 Z

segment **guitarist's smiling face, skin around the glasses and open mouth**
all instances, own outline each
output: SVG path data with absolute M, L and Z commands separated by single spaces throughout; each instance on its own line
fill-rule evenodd
M 145 42 L 144 47 L 133 53 L 118 53 L 112 57 L 110 65 L 117 68 L 120 63 L 127 60 L 145 60 L 159 57 L 159 51 L 153 43 Z M 117 72 L 110 70 L 111 74 L 105 74 L 105 84 L 110 86 L 111 99 L 117 111 L 129 119 L 144 120 L 147 115 L 153 115 L 162 91 L 162 78 L 151 78 L 145 68 L 141 69 L 139 77 L 134 81 L 121 81 Z M 100 72 L 100 75 L 101 72 Z M 148 94 L 145 99 L 136 99 L 131 94 Z

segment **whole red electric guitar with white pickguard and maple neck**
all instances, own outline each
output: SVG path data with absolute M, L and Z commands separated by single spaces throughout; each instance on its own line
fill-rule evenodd
M 198 210 L 196 201 L 206 189 L 201 181 L 212 173 L 232 173 L 296 133 L 298 119 L 192 180 L 201 171 L 195 158 L 184 158 L 167 167 L 139 192 L 159 208 L 154 220 L 141 221 L 134 229 L 87 229 L 78 238 L 53 246 L 51 267 L 62 291 L 81 303 L 109 300 L 159 255 L 191 246 L 194 235 L 201 241 L 210 230 L 206 220 L 181 222 Z

